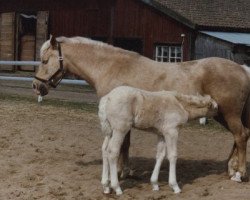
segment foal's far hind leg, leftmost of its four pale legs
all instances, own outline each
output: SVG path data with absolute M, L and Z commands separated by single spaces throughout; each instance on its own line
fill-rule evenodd
M 110 193 L 109 187 L 109 163 L 108 163 L 108 144 L 109 144 L 110 137 L 105 136 L 103 144 L 102 144 L 102 186 L 104 194 Z

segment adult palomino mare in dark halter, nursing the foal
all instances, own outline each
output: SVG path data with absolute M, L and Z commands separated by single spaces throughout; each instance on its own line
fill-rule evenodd
M 120 85 L 148 91 L 164 89 L 210 95 L 219 105 L 217 120 L 234 137 L 228 160 L 229 176 L 238 182 L 247 178 L 250 72 L 244 66 L 222 58 L 159 63 L 137 53 L 82 37 L 61 37 L 57 40 L 52 37 L 41 48 L 41 60 L 33 88 L 42 96 L 48 93 L 50 86 L 55 87 L 59 83 L 65 72 L 85 79 L 96 89 L 99 97 Z M 121 147 L 124 165 L 128 165 L 129 144 L 127 134 Z

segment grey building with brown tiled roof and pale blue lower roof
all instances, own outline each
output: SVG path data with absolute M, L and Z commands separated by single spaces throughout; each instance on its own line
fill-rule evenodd
M 195 59 L 217 56 L 250 66 L 249 0 L 155 1 L 195 24 Z

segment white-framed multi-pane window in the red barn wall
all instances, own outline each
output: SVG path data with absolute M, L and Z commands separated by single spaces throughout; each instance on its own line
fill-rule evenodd
M 182 62 L 183 61 L 182 46 L 181 45 L 156 45 L 155 60 L 158 62 Z

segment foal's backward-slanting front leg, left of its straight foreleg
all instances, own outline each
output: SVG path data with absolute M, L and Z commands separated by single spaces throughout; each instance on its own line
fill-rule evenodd
M 158 144 L 157 144 L 157 153 L 156 153 L 156 163 L 154 167 L 154 171 L 151 176 L 151 184 L 153 186 L 153 190 L 158 191 L 158 177 L 161 169 L 162 161 L 166 156 L 166 144 L 165 139 L 162 136 L 158 136 Z

